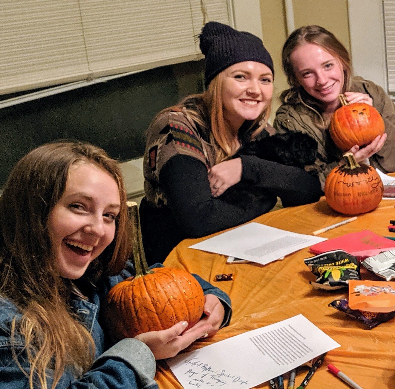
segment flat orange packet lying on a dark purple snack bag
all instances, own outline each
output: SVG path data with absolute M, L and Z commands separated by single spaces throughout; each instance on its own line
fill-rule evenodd
M 395 281 L 350 279 L 348 306 L 367 312 L 395 311 Z

